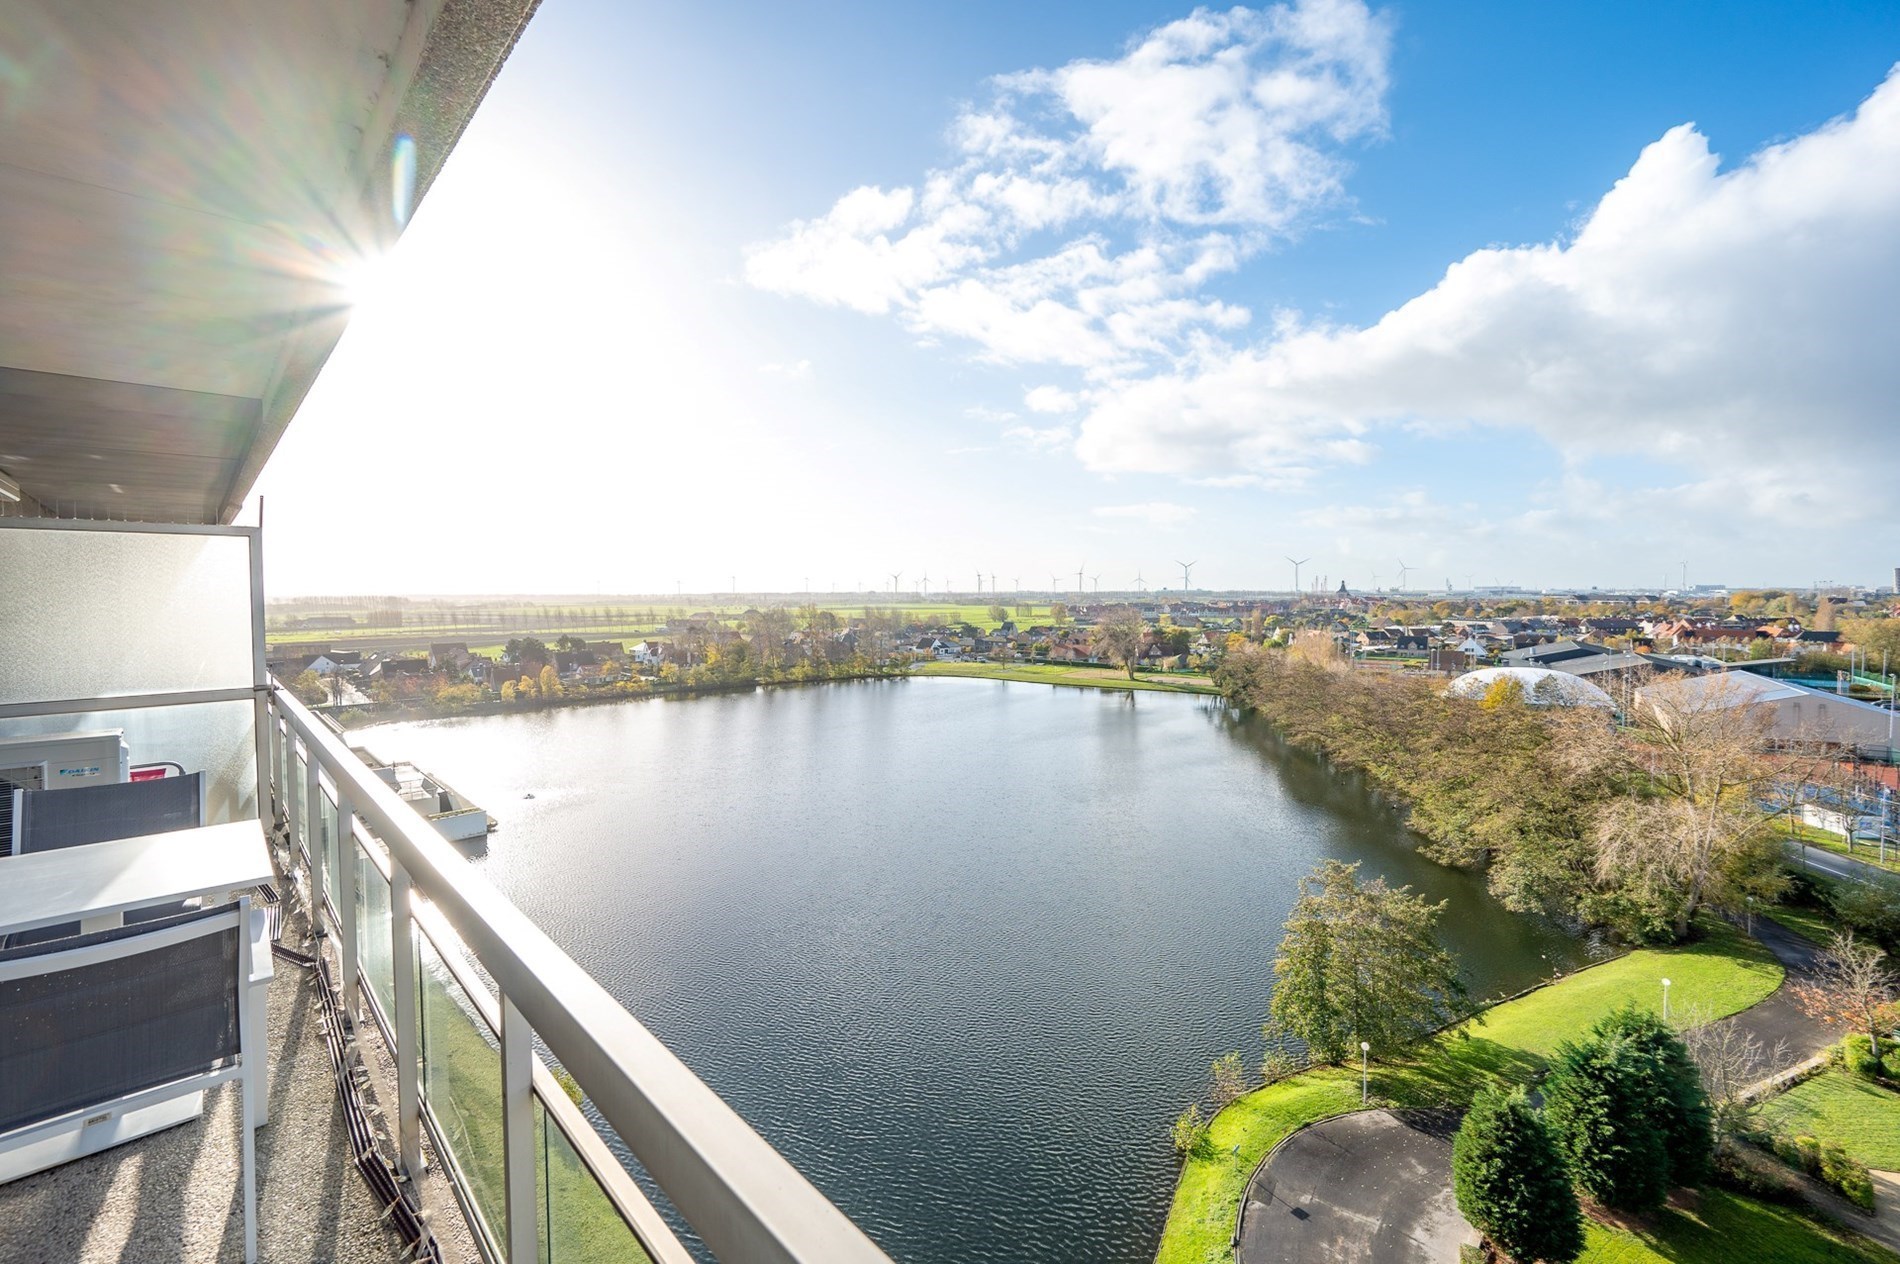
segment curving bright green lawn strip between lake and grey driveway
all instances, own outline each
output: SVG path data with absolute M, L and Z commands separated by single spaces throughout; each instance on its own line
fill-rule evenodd
M 1780 986 L 1782 969 L 1754 939 L 1723 922 L 1700 924 L 1704 939 L 1682 948 L 1640 948 L 1495 1005 L 1400 1064 L 1376 1064 L 1372 1093 L 1395 1106 L 1463 1106 L 1484 1083 L 1526 1080 L 1558 1042 L 1585 1032 L 1626 1000 L 1699 1005 L 1710 1017 L 1746 1009 Z M 1319 1068 L 1248 1093 L 1214 1116 L 1208 1144 L 1189 1158 L 1161 1232 L 1157 1264 L 1222 1264 L 1246 1178 L 1302 1123 L 1358 1108 L 1357 1068 Z

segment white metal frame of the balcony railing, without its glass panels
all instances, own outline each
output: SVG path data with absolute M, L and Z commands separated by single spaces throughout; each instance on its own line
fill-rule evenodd
M 690 1258 L 652 1203 L 614 1159 L 585 1116 L 534 1057 L 534 1040 L 574 1076 L 648 1175 L 718 1258 L 762 1264 L 889 1264 L 889 1258 L 806 1180 L 777 1150 L 709 1089 L 684 1063 L 616 1002 L 598 981 L 504 897 L 454 846 L 350 751 L 281 682 L 272 688 L 270 781 L 277 787 L 291 846 L 308 857 L 310 907 L 338 933 L 344 1004 L 369 1009 L 391 1036 L 397 1066 L 397 1142 L 405 1175 L 422 1167 L 422 1129 L 429 1123 L 418 1085 L 418 988 L 412 928 L 429 935 L 437 956 L 500 1038 L 504 1116 L 504 1197 L 507 1241 L 483 1245 L 509 1264 L 540 1258 L 540 1209 L 534 1178 L 534 1099 L 560 1127 L 581 1163 L 661 1264 Z M 304 751 L 302 777 L 296 747 Z M 338 859 L 352 842 L 390 878 L 390 928 L 395 962 L 395 1015 L 384 1015 L 374 990 L 363 988 L 355 928 L 355 865 L 325 874 L 323 774 L 334 787 Z M 260 776 L 262 783 L 266 777 Z M 260 791 L 262 795 L 262 791 Z M 369 834 L 382 846 L 363 846 Z M 380 855 L 378 855 L 380 852 Z M 325 878 L 350 890 L 325 890 Z M 473 977 L 439 931 L 452 931 L 494 994 Z M 393 1019 L 393 1023 L 391 1023 Z M 390 1030 L 393 1026 L 393 1032 Z M 437 1139 L 439 1140 L 439 1139 Z M 618 1178 L 616 1178 L 618 1177 Z M 458 1188 L 458 1197 L 469 1197 Z M 486 1226 L 469 1216 L 477 1235 Z

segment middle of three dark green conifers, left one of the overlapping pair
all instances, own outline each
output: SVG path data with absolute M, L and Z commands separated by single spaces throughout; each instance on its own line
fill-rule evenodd
M 1564 1042 L 1545 1080 L 1545 1120 L 1585 1194 L 1621 1211 L 1668 1196 L 1662 1129 L 1649 1114 L 1647 1059 L 1623 1040 Z

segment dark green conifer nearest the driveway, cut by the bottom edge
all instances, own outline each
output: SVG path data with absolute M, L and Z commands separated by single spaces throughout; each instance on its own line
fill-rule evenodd
M 1484 1089 L 1452 1139 L 1452 1192 L 1471 1224 L 1516 1260 L 1583 1251 L 1569 1169 L 1524 1089 Z

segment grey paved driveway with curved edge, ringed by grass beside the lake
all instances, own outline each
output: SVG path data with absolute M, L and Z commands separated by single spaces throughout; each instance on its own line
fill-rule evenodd
M 1360 1110 L 1302 1129 L 1241 1203 L 1237 1264 L 1444 1264 L 1476 1243 L 1452 1199 L 1455 1116 Z

